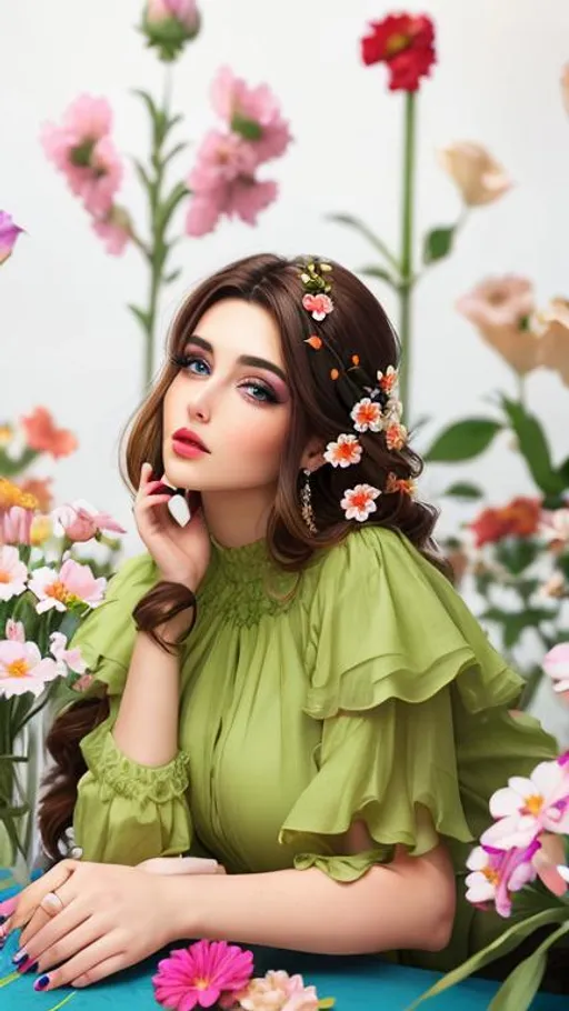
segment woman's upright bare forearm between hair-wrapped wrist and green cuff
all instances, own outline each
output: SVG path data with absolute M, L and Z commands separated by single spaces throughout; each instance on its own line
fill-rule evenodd
M 181 614 L 168 629 L 173 641 L 188 628 Z M 167 765 L 178 752 L 180 661 L 139 632 L 113 728 L 117 747 L 141 765 Z

